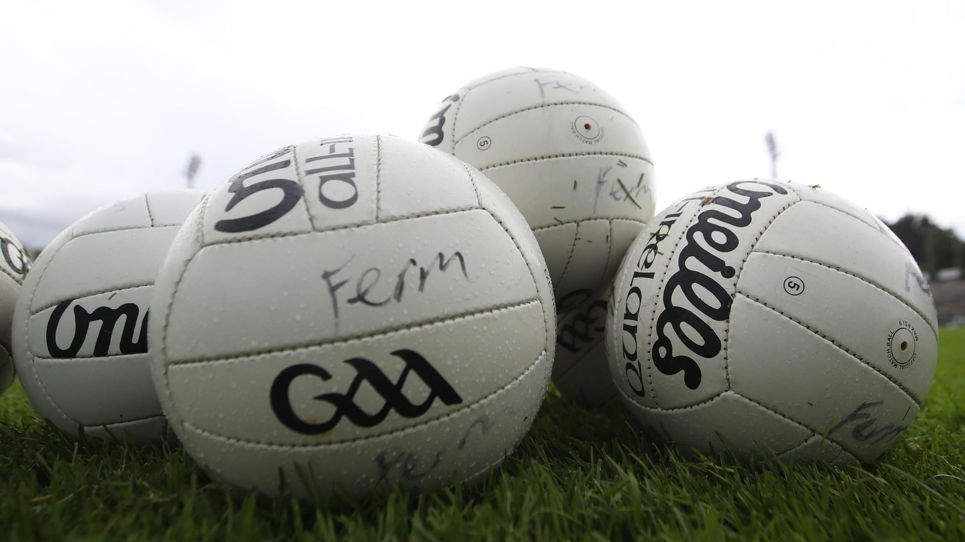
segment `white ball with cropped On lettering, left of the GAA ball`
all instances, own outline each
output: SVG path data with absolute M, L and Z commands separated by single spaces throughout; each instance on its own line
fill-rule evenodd
M 167 436 L 148 362 L 148 304 L 203 195 L 153 192 L 101 207 L 55 237 L 27 274 L 14 312 L 16 372 L 37 412 L 69 435 Z

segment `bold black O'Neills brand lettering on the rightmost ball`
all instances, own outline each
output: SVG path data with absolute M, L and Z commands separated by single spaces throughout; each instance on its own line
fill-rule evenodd
M 773 192 L 761 192 L 758 190 L 748 190 L 740 188 L 741 184 L 752 183 L 760 184 L 771 188 Z M 691 353 L 702 358 L 713 358 L 721 351 L 721 339 L 714 332 L 713 328 L 696 313 L 686 307 L 674 305 L 673 297 L 677 288 L 683 292 L 687 301 L 704 316 L 716 320 L 724 321 L 731 315 L 731 294 L 727 289 L 715 281 L 712 277 L 704 275 L 702 272 L 687 267 L 687 260 L 690 257 L 698 261 L 710 271 L 719 274 L 725 279 L 733 278 L 736 271 L 727 265 L 722 258 L 717 257 L 699 244 L 695 238 L 697 233 L 701 233 L 703 242 L 718 253 L 729 253 L 737 248 L 740 240 L 737 234 L 728 226 L 733 228 L 746 228 L 752 222 L 752 215 L 760 208 L 760 200 L 777 194 L 787 194 L 787 190 L 778 184 L 771 184 L 759 180 L 737 181 L 727 186 L 728 190 L 734 194 L 744 196 L 748 199 L 747 203 L 738 203 L 724 196 L 717 196 L 712 203 L 729 207 L 739 214 L 733 216 L 719 209 L 706 209 L 697 216 L 697 223 L 691 226 L 685 238 L 687 244 L 680 250 L 677 257 L 678 269 L 667 279 L 667 284 L 663 291 L 663 312 L 657 318 L 656 334 L 657 339 L 653 341 L 653 349 L 650 355 L 653 359 L 653 366 L 660 372 L 667 375 L 674 375 L 683 371 L 683 382 L 687 388 L 696 390 L 701 385 L 702 373 L 701 366 L 688 355 L 675 355 L 674 343 L 667 336 L 666 327 L 669 324 L 676 335 L 676 338 L 683 343 L 684 347 Z M 711 220 L 715 222 L 710 222 Z M 713 234 L 720 233 L 724 236 L 723 241 L 714 239 Z M 719 304 L 712 307 L 695 291 L 694 286 L 701 286 Z M 682 325 L 687 324 L 703 340 L 698 343 L 684 333 Z

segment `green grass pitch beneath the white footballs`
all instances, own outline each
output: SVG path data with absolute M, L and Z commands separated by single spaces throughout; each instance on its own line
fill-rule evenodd
M 686 460 L 619 405 L 548 393 L 505 466 L 474 487 L 366 502 L 270 500 L 212 482 L 180 449 L 92 447 L 0 397 L 0 538 L 10 540 L 965 540 L 965 328 L 943 329 L 918 420 L 877 463 Z

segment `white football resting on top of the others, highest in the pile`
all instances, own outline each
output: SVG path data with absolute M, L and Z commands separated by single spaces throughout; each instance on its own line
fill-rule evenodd
M 446 97 L 420 141 L 488 176 L 536 234 L 557 312 L 592 302 L 653 216 L 653 162 L 620 102 L 546 68 L 483 75 Z

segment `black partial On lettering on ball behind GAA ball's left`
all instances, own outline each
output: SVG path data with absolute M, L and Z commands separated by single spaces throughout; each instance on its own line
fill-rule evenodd
M 51 358 L 73 358 L 84 346 L 87 339 L 87 330 L 91 323 L 100 321 L 100 331 L 94 343 L 94 356 L 103 357 L 108 355 L 111 347 L 111 339 L 114 336 L 114 328 L 118 320 L 124 316 L 124 329 L 121 331 L 120 349 L 122 354 L 143 354 L 148 351 L 148 313 L 145 311 L 144 318 L 141 319 L 141 335 L 134 340 L 134 328 L 137 325 L 137 315 L 140 308 L 134 303 L 124 303 L 117 309 L 110 307 L 99 307 L 94 312 L 87 312 L 79 305 L 73 306 L 73 339 L 67 348 L 57 345 L 57 328 L 60 326 L 64 312 L 73 301 L 65 301 L 50 312 L 50 319 L 47 320 L 47 350 Z

